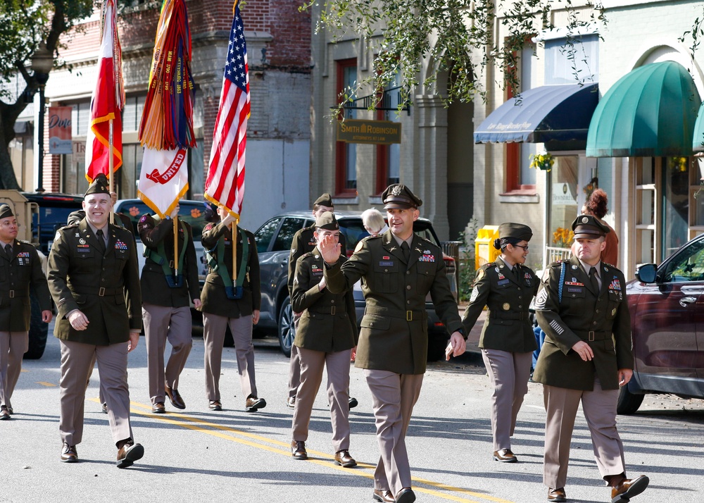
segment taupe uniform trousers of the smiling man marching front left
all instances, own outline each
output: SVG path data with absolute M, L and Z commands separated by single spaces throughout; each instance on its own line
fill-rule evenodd
M 100 383 L 108 404 L 108 423 L 117 445 L 120 440 L 134 438 L 130 425 L 130 389 L 127 387 L 127 344 L 119 342 L 97 346 L 61 340 L 61 440 L 68 445 L 83 439 L 83 408 L 86 383 L 95 358 Z

